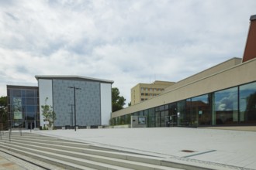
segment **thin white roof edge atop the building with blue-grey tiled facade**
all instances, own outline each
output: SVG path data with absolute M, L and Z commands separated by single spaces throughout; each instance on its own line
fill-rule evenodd
M 95 79 L 88 76 L 76 76 L 76 75 L 36 75 L 36 80 L 39 79 L 64 79 L 64 80 L 89 80 L 99 81 L 102 83 L 114 83 L 112 80 Z

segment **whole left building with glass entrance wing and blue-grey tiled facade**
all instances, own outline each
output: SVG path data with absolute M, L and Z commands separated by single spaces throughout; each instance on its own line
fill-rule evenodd
M 9 128 L 43 128 L 49 122 L 41 107 L 56 114 L 50 128 L 108 125 L 112 112 L 112 80 L 85 76 L 35 76 L 38 87 L 7 85 Z M 79 90 L 74 93 L 70 87 Z M 47 100 L 47 101 L 46 101 Z M 46 103 L 47 102 L 47 103 Z

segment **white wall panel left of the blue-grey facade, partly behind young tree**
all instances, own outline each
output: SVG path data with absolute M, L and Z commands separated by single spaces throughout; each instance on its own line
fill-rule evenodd
M 45 99 L 48 97 L 47 104 L 53 106 L 53 81 L 39 79 L 39 105 L 40 105 L 40 126 L 43 127 L 43 116 L 41 106 L 45 104 Z

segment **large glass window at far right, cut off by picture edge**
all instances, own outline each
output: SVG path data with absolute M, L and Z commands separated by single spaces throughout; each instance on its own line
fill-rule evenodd
M 239 88 L 240 123 L 256 123 L 256 82 Z

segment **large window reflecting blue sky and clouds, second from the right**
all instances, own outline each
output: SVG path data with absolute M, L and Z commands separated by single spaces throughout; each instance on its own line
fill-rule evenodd
M 230 88 L 213 93 L 213 124 L 237 124 L 238 122 L 238 88 Z

